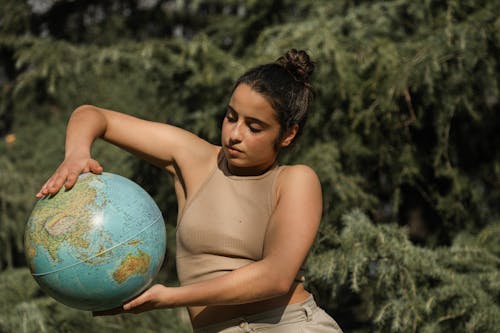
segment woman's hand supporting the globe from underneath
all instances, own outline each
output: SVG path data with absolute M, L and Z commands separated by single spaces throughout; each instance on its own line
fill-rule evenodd
M 164 302 L 166 299 L 166 292 L 168 288 L 161 284 L 155 284 L 151 288 L 144 291 L 142 294 L 136 298 L 123 304 L 121 307 L 117 307 L 110 310 L 104 311 L 93 311 L 93 316 L 111 316 L 122 313 L 142 313 L 145 311 L 160 309 L 168 307 Z

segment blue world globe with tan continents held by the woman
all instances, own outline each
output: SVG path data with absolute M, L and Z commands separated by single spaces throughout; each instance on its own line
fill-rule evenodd
M 139 185 L 112 173 L 81 174 L 35 204 L 25 253 L 42 290 L 70 307 L 121 306 L 151 284 L 163 263 L 165 224 Z

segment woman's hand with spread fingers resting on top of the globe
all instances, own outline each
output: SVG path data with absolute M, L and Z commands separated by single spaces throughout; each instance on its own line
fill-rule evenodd
M 43 184 L 42 188 L 36 194 L 37 198 L 46 195 L 54 195 L 61 187 L 69 190 L 75 185 L 78 176 L 84 172 L 96 174 L 102 173 L 102 166 L 96 160 L 88 158 L 66 158 L 57 168 L 54 174 Z

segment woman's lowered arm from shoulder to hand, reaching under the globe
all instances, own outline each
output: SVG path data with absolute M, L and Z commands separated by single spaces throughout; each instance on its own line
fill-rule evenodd
M 176 306 L 242 304 L 286 294 L 314 242 L 322 212 L 319 180 L 309 167 L 285 169 L 262 260 L 182 287 L 155 285 L 124 305 L 126 312 Z

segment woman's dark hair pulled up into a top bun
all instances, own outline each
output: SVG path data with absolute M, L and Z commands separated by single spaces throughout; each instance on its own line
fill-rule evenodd
M 234 85 L 233 91 L 241 83 L 248 84 L 276 111 L 281 125 L 277 148 L 295 124 L 299 126 L 295 139 L 302 133 L 314 96 L 309 83 L 314 68 L 315 63 L 305 51 L 291 49 L 274 63 L 250 69 Z

